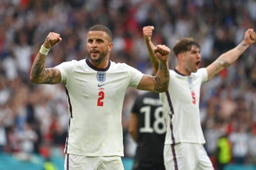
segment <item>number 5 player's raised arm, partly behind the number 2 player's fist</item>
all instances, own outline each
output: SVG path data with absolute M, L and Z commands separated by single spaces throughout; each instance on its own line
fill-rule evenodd
M 153 63 L 153 74 L 156 75 L 157 70 L 158 70 L 158 65 L 159 65 L 159 61 L 158 58 L 155 56 L 155 53 L 153 51 L 153 49 L 156 47 L 152 40 L 151 37 L 153 35 L 153 30 L 154 30 L 154 26 L 145 26 L 143 27 L 142 31 L 143 31 L 143 37 L 146 43 L 146 47 L 147 47 L 147 51 L 148 54 L 150 55 L 150 60 Z

